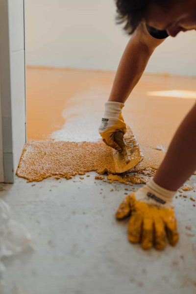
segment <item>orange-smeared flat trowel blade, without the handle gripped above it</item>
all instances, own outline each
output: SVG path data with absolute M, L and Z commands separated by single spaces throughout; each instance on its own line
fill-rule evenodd
M 120 153 L 119 151 L 113 149 L 116 173 L 127 172 L 143 160 L 143 154 L 138 145 L 137 139 L 133 135 L 133 132 L 129 127 L 127 128 L 127 132 L 124 135 L 124 143 L 127 148 L 127 153 L 130 158 L 130 162 L 126 163 L 123 152 Z

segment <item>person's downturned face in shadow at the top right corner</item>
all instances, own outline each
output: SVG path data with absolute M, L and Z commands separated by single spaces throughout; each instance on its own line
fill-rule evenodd
M 154 28 L 167 30 L 172 37 L 180 31 L 196 30 L 196 0 L 178 2 L 168 10 L 152 5 L 147 10 L 145 22 Z

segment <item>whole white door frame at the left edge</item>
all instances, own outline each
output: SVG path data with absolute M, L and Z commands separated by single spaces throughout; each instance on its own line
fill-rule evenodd
M 24 0 L 0 0 L 0 181 L 13 183 L 26 141 Z

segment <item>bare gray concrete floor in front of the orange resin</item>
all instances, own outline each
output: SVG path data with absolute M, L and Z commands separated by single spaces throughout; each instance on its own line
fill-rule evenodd
M 128 243 L 127 223 L 115 220 L 129 186 L 90 175 L 35 186 L 16 178 L 15 184 L 4 186 L 0 196 L 13 218 L 28 228 L 33 244 L 3 259 L 0 294 L 195 294 L 194 202 L 174 199 L 180 233 L 175 248 L 144 251 Z M 188 183 L 194 182 L 196 186 L 196 176 Z M 193 191 L 184 194 L 196 196 Z

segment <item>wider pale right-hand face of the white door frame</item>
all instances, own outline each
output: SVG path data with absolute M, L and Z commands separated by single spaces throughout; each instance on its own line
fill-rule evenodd
M 13 170 L 25 145 L 24 0 L 8 0 Z

